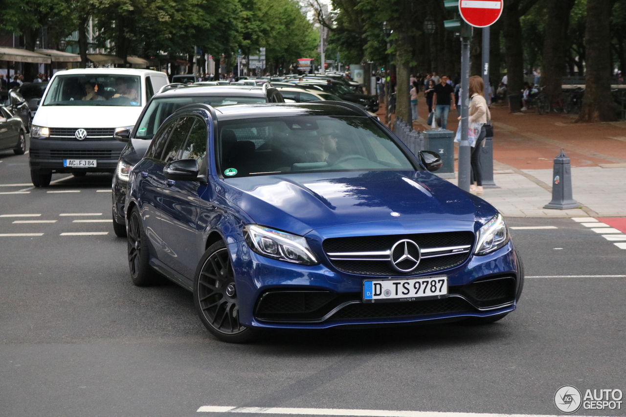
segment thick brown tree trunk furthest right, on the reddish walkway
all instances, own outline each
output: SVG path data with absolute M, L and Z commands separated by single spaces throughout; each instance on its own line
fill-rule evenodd
M 583 107 L 577 121 L 617 120 L 611 95 L 611 9 L 614 0 L 587 0 L 587 80 Z

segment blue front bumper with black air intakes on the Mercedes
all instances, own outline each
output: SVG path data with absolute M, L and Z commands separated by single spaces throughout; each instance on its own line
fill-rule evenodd
M 453 269 L 417 275 L 447 275 L 447 298 L 380 304 L 361 302 L 362 282 L 384 277 L 346 274 L 323 263 L 313 266 L 287 264 L 255 254 L 245 242 L 229 244 L 228 249 L 235 271 L 240 321 L 250 327 L 321 329 L 497 316 L 515 310 L 523 286 L 523 272 L 511 242 L 488 255 L 471 255 Z M 493 286 L 487 288 L 488 282 L 500 286 L 499 296 L 489 299 L 485 295 L 493 290 Z M 483 290 L 488 291 L 481 291 L 483 295 L 478 295 L 476 286 L 483 286 Z M 280 304 L 280 300 L 274 299 L 264 304 L 264 297 L 268 294 L 284 296 L 284 291 L 292 291 L 285 297 L 285 303 Z M 316 296 L 297 304 L 302 296 L 300 293 Z M 314 304 L 311 299 L 316 297 L 321 306 L 319 309 L 310 307 Z M 285 314 L 281 315 L 280 306 L 285 305 L 301 314 L 283 311 Z M 302 306 L 309 306 L 309 311 L 303 311 L 307 307 Z

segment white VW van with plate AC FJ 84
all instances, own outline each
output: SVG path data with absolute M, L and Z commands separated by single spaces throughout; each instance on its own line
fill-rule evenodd
M 115 172 L 125 143 L 116 129 L 132 130 L 143 107 L 167 75 L 130 68 L 59 71 L 35 113 L 29 152 L 35 187 L 47 187 L 53 172 Z

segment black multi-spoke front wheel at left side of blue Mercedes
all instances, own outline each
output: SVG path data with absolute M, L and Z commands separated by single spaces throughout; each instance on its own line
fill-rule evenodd
M 258 336 L 258 331 L 239 323 L 235 274 L 221 240 L 200 259 L 193 280 L 193 302 L 202 324 L 221 341 L 244 343 Z

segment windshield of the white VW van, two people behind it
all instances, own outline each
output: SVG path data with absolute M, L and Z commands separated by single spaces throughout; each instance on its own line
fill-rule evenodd
M 44 106 L 140 106 L 136 75 L 80 74 L 54 78 Z

